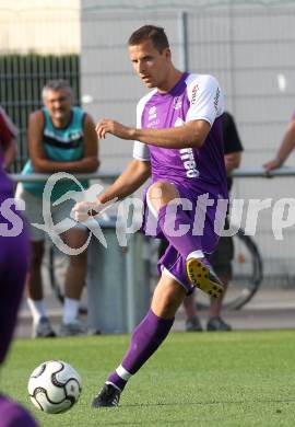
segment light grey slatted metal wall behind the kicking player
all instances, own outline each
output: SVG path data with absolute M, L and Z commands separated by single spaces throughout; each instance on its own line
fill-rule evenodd
M 294 109 L 295 2 L 291 1 L 93 1 L 82 3 L 82 93 L 94 117 L 134 124 L 135 105 L 146 92 L 133 74 L 127 39 L 140 25 L 165 27 L 173 60 L 180 69 L 212 73 L 221 82 L 226 108 L 244 143 L 241 168 L 261 166 L 279 147 Z M 129 161 L 132 146 L 108 137 L 102 145 L 104 166 Z M 288 164 L 294 161 L 291 155 Z M 233 197 L 294 197 L 294 177 L 239 177 Z M 294 286 L 295 229 L 274 241 L 271 211 L 259 214 L 256 240 L 267 281 Z

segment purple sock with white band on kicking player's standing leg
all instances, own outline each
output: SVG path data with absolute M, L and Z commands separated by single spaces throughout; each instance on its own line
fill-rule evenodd
M 122 359 L 121 367 L 130 374 L 134 374 L 142 365 L 155 353 L 157 347 L 168 335 L 174 319 L 162 319 L 150 309 L 132 334 L 131 343 Z M 111 382 L 123 390 L 127 379 L 122 379 L 117 371 L 110 373 L 107 382 Z

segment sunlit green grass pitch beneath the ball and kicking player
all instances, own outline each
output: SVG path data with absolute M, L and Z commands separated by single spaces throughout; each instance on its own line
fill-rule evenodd
M 42 427 L 295 425 L 295 331 L 173 333 L 130 380 L 118 408 L 91 408 L 129 338 L 15 341 L 1 390 L 28 407 Z M 68 361 L 83 379 L 81 399 L 66 414 L 44 414 L 27 396 L 31 371 L 50 359 Z

